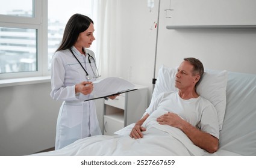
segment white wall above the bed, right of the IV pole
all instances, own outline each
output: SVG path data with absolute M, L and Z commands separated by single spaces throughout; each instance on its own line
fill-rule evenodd
M 163 2 L 161 4 L 161 11 L 163 11 L 164 6 L 166 7 L 168 2 L 161 2 Z M 175 11 L 180 11 L 179 8 L 183 8 L 183 4 L 190 4 L 189 6 L 184 5 L 187 7 L 186 10 L 190 8 L 192 16 L 195 15 L 194 17 L 188 16 L 190 20 L 187 24 L 189 25 L 193 23 L 193 20 L 195 20 L 195 25 L 211 25 L 211 19 L 213 20 L 213 25 L 256 25 L 256 1 L 234 0 L 229 1 L 230 3 L 219 0 L 208 1 L 208 9 L 204 8 L 207 7 L 205 1 L 204 3 L 202 3 L 202 0 L 193 2 L 191 4 L 189 0 L 173 1 L 173 9 Z M 195 2 L 198 2 L 198 4 L 195 5 Z M 245 12 L 242 13 L 239 9 L 243 9 Z M 207 14 L 207 10 L 211 14 L 211 17 L 209 16 L 210 14 Z M 196 16 L 196 14 L 193 14 L 193 11 L 200 13 L 200 15 Z M 173 11 L 173 17 L 171 19 L 165 19 L 164 12 L 161 13 L 163 25 L 160 28 L 158 65 L 167 64 L 175 66 L 180 64 L 184 57 L 192 56 L 201 59 L 205 68 L 256 73 L 256 67 L 254 65 L 256 61 L 256 48 L 254 47 L 256 46 L 256 29 L 186 31 L 166 29 L 166 25 L 170 25 L 173 23 L 173 20 L 177 20 L 176 17 L 178 19 L 180 18 L 179 14 L 182 13 L 175 13 Z M 208 20 L 204 20 L 204 15 L 208 16 Z M 223 16 L 223 18 L 220 16 Z M 199 22 L 198 17 L 202 17 L 203 21 Z

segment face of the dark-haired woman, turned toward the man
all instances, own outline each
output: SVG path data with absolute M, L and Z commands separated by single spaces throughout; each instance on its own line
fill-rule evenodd
M 93 36 L 94 27 L 93 23 L 90 24 L 89 28 L 81 32 L 76 40 L 75 47 L 81 49 L 82 47 L 89 48 L 92 45 L 92 42 L 95 40 Z

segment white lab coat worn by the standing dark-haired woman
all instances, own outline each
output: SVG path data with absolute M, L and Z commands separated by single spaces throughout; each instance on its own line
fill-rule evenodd
M 89 64 L 88 55 L 84 56 L 75 47 L 72 51 L 76 58 L 86 69 L 90 76 L 96 71 L 95 64 Z M 95 58 L 92 50 L 86 49 Z M 90 81 L 96 78 L 90 79 Z M 51 97 L 54 100 L 63 100 L 57 120 L 55 149 L 75 142 L 84 137 L 101 134 L 98 118 L 96 116 L 95 102 L 84 101 L 93 95 L 75 94 L 77 83 L 89 81 L 86 72 L 74 58 L 69 49 L 61 50 L 54 54 L 51 64 Z

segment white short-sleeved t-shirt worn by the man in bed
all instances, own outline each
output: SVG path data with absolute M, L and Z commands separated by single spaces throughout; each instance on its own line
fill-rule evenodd
M 164 113 L 176 113 L 201 131 L 219 139 L 216 109 L 210 101 L 200 96 L 184 100 L 178 92 L 164 92 L 158 95 L 154 103 L 151 103 L 146 109 L 146 112 L 149 114 L 149 118 L 154 118 L 155 120 Z

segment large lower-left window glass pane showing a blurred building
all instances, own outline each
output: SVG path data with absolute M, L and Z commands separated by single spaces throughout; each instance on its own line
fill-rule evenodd
M 0 73 L 37 71 L 36 29 L 0 27 Z

